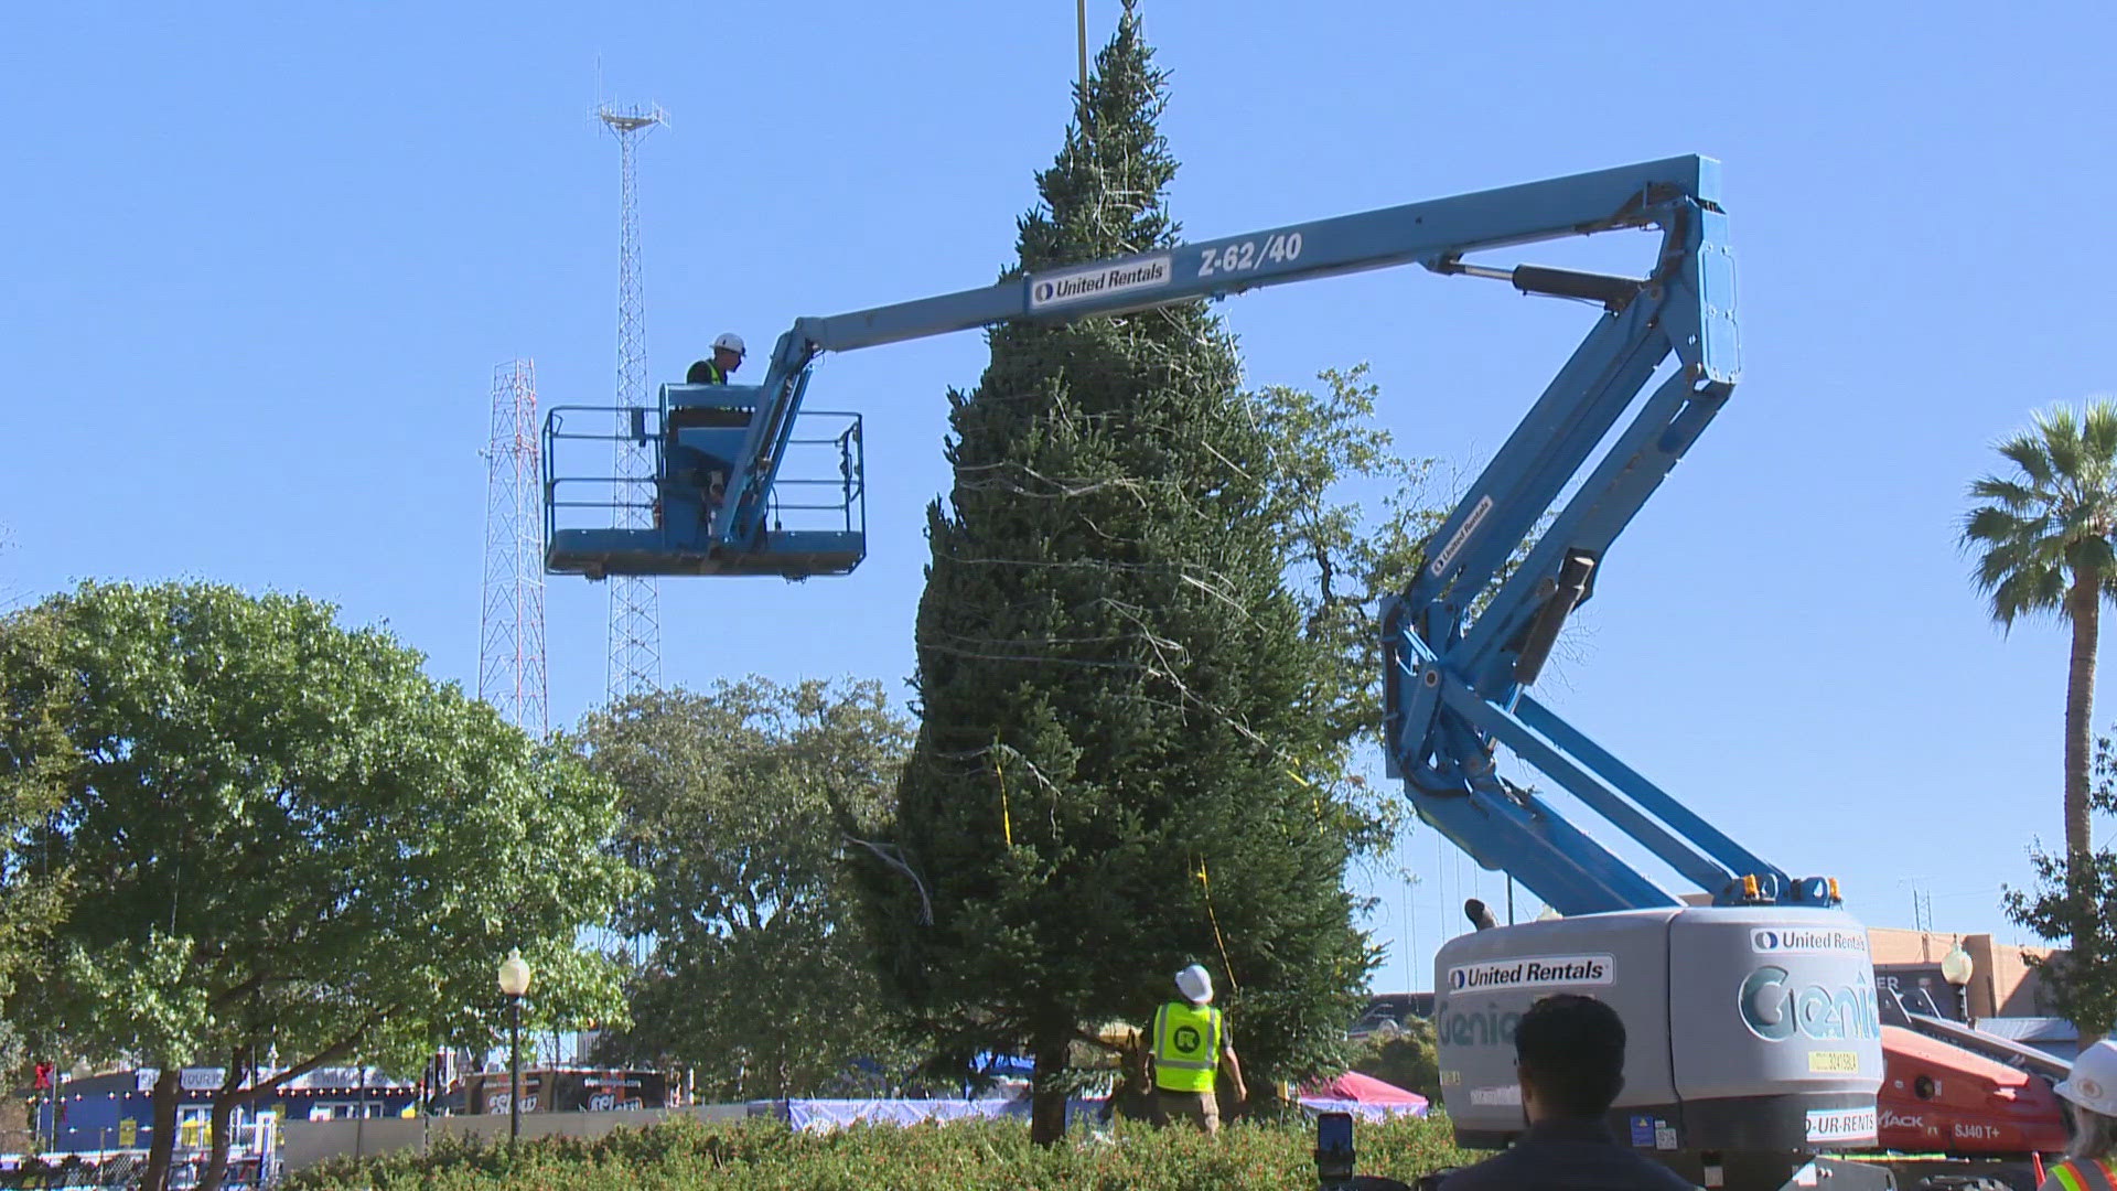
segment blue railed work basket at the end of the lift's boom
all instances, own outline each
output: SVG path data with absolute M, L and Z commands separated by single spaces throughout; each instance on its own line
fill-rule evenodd
M 561 405 L 544 420 L 544 570 L 553 574 L 847 574 L 868 553 L 857 413 L 802 411 L 741 549 L 713 547 L 713 517 L 743 479 L 758 386 L 667 384 L 661 405 Z M 618 443 L 652 462 L 612 475 Z

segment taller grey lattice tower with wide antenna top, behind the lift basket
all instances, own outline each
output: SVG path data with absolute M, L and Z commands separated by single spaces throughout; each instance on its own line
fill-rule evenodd
M 631 411 L 648 403 L 648 320 L 639 286 L 639 184 L 635 157 L 650 131 L 669 123 L 658 106 L 614 108 L 595 117 L 618 138 L 618 528 L 654 523 L 654 456 L 631 434 Z M 627 695 L 661 687 L 661 591 L 654 576 L 610 576 L 608 693 Z

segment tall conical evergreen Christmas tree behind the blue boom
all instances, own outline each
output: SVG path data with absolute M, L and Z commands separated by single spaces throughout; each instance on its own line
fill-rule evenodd
M 1162 104 L 1128 4 L 1012 275 L 1175 242 Z M 1372 691 L 1353 589 L 1382 559 L 1327 490 L 1374 462 L 1349 458 L 1368 390 L 1243 394 L 1202 303 L 989 341 L 927 519 L 919 742 L 862 869 L 887 979 L 944 1062 L 1035 1055 L 1042 1142 L 1082 1024 L 1143 1021 L 1192 960 L 1253 1085 L 1342 1070 L 1372 964 L 1342 873 L 1372 824 L 1336 778 Z M 1325 583 L 1296 589 L 1315 551 Z

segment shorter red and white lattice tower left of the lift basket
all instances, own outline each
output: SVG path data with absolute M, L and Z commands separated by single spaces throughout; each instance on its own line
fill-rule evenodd
M 550 731 L 544 691 L 544 511 L 538 500 L 536 360 L 493 369 L 485 449 L 485 617 L 478 697 L 514 727 Z

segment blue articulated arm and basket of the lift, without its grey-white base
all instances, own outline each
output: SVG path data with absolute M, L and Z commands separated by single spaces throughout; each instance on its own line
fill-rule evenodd
M 1567 617 L 1594 591 L 1611 540 L 1719 413 L 1740 373 L 1734 261 L 1719 208 L 1719 163 L 1672 157 L 1524 186 L 1459 195 L 1183 244 L 1092 265 L 832 318 L 802 318 L 779 337 L 756 386 L 661 390 L 658 409 L 620 411 L 616 434 L 658 458 L 646 498 L 650 528 L 574 526 L 572 513 L 610 513 L 612 500 L 574 500 L 569 441 L 608 443 L 608 411 L 555 409 L 546 424 L 546 568 L 557 574 L 845 574 L 866 555 L 860 528 L 862 458 L 853 415 L 802 413 L 817 356 L 946 335 L 1006 320 L 1073 320 L 1228 297 L 1249 288 L 1387 265 L 1512 282 L 1528 295 L 1603 307 L 1588 337 L 1492 456 L 1448 523 L 1425 570 L 1385 608 L 1389 657 L 1387 754 L 1437 829 L 1490 869 L 1507 867 L 1560 913 L 1679 905 L 1492 767 L 1503 744 L 1558 786 L 1725 903 L 1833 905 L 1825 879 L 1791 879 L 1645 778 L 1596 748 L 1526 689 Z M 1497 248 L 1617 229 L 1660 229 L 1643 278 L 1467 263 Z M 1664 362 L 1624 432 L 1560 509 L 1537 547 L 1471 615 L 1524 536 Z M 830 417 L 824 434 L 796 426 Z M 800 445 L 824 447 L 830 492 L 788 494 L 783 466 Z M 709 460 L 701 464 L 701 460 Z M 845 523 L 783 530 L 788 513 L 826 511 Z M 605 517 L 616 521 L 616 517 Z M 1666 829 L 1649 822 L 1660 818 Z

